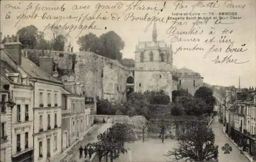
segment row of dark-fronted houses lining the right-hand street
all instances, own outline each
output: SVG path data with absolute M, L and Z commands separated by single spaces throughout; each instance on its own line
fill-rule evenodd
M 237 89 L 232 86 L 227 90 L 226 132 L 253 159 L 256 159 L 255 105 L 256 90 L 253 88 Z

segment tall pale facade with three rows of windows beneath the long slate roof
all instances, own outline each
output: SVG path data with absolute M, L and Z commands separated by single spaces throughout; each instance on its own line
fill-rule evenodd
M 61 86 L 37 81 L 34 87 L 34 161 L 46 161 L 61 152 Z

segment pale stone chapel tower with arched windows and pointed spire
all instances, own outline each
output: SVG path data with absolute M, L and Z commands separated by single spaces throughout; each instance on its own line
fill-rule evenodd
M 152 41 L 139 41 L 136 44 L 135 92 L 163 90 L 172 99 L 172 66 L 172 45 L 157 40 L 154 22 Z

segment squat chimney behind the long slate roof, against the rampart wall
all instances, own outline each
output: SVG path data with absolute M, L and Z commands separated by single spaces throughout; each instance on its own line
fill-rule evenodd
M 51 51 L 42 50 L 39 59 L 39 67 L 41 70 L 52 76 L 53 72 L 53 58 L 51 56 Z

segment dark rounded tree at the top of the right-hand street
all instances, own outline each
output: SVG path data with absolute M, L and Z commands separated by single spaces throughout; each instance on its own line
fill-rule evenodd
M 200 87 L 196 90 L 194 97 L 201 98 L 206 104 L 210 106 L 210 111 L 207 113 L 211 113 L 214 110 L 214 105 L 216 104 L 216 98 L 212 96 L 214 92 L 209 87 Z

